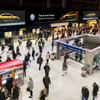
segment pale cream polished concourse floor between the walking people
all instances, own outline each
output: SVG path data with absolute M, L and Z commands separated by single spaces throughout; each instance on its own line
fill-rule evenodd
M 18 43 L 15 43 L 15 47 Z M 33 41 L 33 47 L 36 52 L 38 52 L 38 46 L 35 45 Z M 24 59 L 24 55 L 28 52 L 25 47 L 25 42 L 20 46 L 20 50 L 22 56 L 18 57 L 17 59 Z M 27 68 L 27 77 L 24 79 L 24 85 L 21 86 L 21 95 L 20 100 L 39 100 L 40 91 L 44 89 L 44 85 L 42 82 L 44 73 L 44 65 L 46 63 L 45 55 L 47 52 L 51 51 L 51 42 L 46 41 L 45 47 L 43 49 L 43 64 L 41 71 L 38 70 L 38 64 L 36 63 L 37 57 L 35 60 L 31 58 L 31 63 Z M 54 52 L 56 51 L 56 47 Z M 31 50 L 30 50 L 31 52 Z M 6 54 L 6 50 L 5 50 Z M 4 55 L 5 55 L 4 54 Z M 4 58 L 5 59 L 5 58 Z M 80 63 L 77 63 L 71 59 L 68 59 L 68 71 L 64 73 L 62 71 L 62 58 L 60 60 L 50 60 L 50 92 L 46 100 L 81 100 L 81 88 L 82 86 L 87 86 L 90 92 L 89 100 L 92 100 L 92 84 L 96 82 L 100 85 L 100 72 L 96 72 L 90 76 L 82 77 L 81 76 L 81 67 L 83 66 Z M 64 76 L 62 76 L 64 74 Z M 34 89 L 33 89 L 33 98 L 29 98 L 29 92 L 26 91 L 28 86 L 28 78 L 32 77 L 34 82 Z M 98 93 L 100 94 L 100 92 Z M 100 95 L 96 98 L 96 100 L 100 100 Z

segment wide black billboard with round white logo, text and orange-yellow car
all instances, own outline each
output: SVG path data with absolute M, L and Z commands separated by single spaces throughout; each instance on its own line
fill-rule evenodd
M 42 11 L 26 10 L 27 25 L 39 22 L 76 21 L 78 19 L 78 11 L 66 11 L 62 9 L 46 9 Z

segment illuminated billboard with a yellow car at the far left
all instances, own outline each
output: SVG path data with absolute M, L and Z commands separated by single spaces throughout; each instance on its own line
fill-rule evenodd
M 24 25 L 25 11 L 0 10 L 0 26 Z

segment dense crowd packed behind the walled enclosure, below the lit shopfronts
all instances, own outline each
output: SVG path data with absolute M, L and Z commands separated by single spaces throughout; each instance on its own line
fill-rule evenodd
M 54 39 L 68 38 L 82 34 L 100 35 L 100 25 L 89 26 L 88 24 L 84 24 L 78 27 L 68 26 L 67 28 L 58 29 L 56 32 L 54 31 L 53 34 L 56 34 Z

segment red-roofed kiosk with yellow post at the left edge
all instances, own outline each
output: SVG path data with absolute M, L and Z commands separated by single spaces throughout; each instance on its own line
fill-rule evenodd
M 23 62 L 20 60 L 10 60 L 7 62 L 0 63 L 0 87 L 4 84 L 6 84 L 6 76 L 7 74 L 11 74 L 11 77 L 15 79 L 15 83 L 18 83 L 17 80 L 19 80 L 19 83 L 23 81 L 22 78 L 22 67 Z

